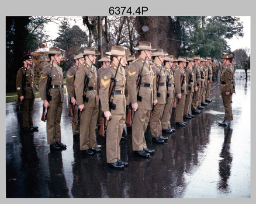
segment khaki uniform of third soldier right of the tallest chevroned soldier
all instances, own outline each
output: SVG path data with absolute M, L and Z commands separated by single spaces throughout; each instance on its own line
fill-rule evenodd
M 181 122 L 184 115 L 184 107 L 185 107 L 185 100 L 186 100 L 186 74 L 184 73 L 184 68 L 177 66 L 174 72 L 174 87 L 175 87 L 175 94 L 181 93 L 181 99 L 177 98 L 177 108 L 176 108 L 176 115 L 175 115 L 175 122 Z M 184 83 L 181 86 L 181 77 L 184 75 Z

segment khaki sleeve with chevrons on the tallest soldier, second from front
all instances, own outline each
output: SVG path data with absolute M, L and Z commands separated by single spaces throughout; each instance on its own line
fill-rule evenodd
M 127 89 L 129 94 L 129 99 L 131 103 L 137 103 L 137 79 L 139 75 L 139 68 L 132 62 L 129 66 L 128 75 L 127 75 Z

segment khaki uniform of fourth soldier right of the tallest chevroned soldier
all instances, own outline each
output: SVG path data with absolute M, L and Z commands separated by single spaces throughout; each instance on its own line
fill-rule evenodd
M 186 84 L 188 85 L 188 95 L 186 95 L 185 107 L 184 107 L 184 115 L 188 115 L 191 112 L 191 103 L 192 97 L 194 93 L 195 85 L 195 72 L 193 72 L 193 68 L 188 66 L 186 68 Z

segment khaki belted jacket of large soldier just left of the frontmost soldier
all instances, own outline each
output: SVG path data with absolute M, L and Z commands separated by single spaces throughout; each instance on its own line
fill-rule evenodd
M 90 66 L 87 62 L 78 68 L 75 73 L 75 96 L 77 97 L 77 104 L 87 105 L 88 107 L 96 107 L 99 105 L 98 100 L 98 87 L 97 87 L 97 71 L 94 65 L 92 65 L 91 71 L 89 72 Z M 92 90 L 86 91 L 86 97 L 88 97 L 88 103 L 84 102 L 83 95 L 85 76 L 89 77 L 88 87 L 93 87 Z

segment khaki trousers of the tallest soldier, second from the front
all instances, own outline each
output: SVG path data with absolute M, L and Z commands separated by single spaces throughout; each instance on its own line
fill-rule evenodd
M 132 124 L 133 151 L 141 151 L 147 148 L 144 133 L 146 132 L 150 110 L 138 109 L 134 112 Z

